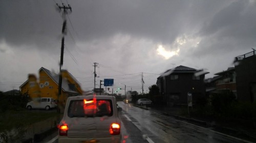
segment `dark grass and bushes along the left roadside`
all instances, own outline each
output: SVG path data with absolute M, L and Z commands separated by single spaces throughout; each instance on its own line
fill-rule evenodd
M 27 110 L 27 95 L 4 95 L 0 92 L 0 142 L 15 142 L 25 137 L 33 123 L 59 116 L 55 111 Z

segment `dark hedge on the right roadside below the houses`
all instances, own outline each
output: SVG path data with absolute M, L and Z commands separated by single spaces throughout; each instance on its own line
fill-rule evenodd
M 239 102 L 233 93 L 212 94 L 197 100 L 190 115 L 227 126 L 256 127 L 256 103 Z

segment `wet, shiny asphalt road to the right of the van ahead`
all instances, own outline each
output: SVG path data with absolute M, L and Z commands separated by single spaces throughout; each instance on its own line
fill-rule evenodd
M 172 117 L 163 115 L 157 110 L 145 110 L 132 104 L 118 102 L 122 107 L 121 118 L 122 142 L 127 143 L 157 143 L 157 142 L 225 142 L 242 143 L 245 140 L 227 136 L 199 127 Z M 53 141 L 58 142 L 57 140 Z M 50 142 L 47 142 L 50 143 Z

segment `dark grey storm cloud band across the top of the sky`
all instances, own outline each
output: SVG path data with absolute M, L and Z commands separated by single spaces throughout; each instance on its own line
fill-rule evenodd
M 60 4 L 60 1 L 1 1 L 0 40 L 16 47 L 29 45 L 47 50 L 60 47 L 62 18 L 55 2 Z M 231 42 L 237 42 L 236 48 L 255 45 L 256 9 L 251 1 L 68 2 L 73 8 L 67 19 L 68 28 L 76 42 L 121 34 L 171 45 L 178 36 L 188 34 L 202 39 L 196 53 L 212 47 L 232 48 Z M 66 43 L 73 43 L 69 32 Z

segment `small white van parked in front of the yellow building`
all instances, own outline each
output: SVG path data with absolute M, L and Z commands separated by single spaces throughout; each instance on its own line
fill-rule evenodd
M 33 101 L 28 102 L 26 105 L 27 109 L 46 109 L 55 108 L 57 105 L 54 102 L 53 98 L 43 97 L 43 98 L 34 98 Z

